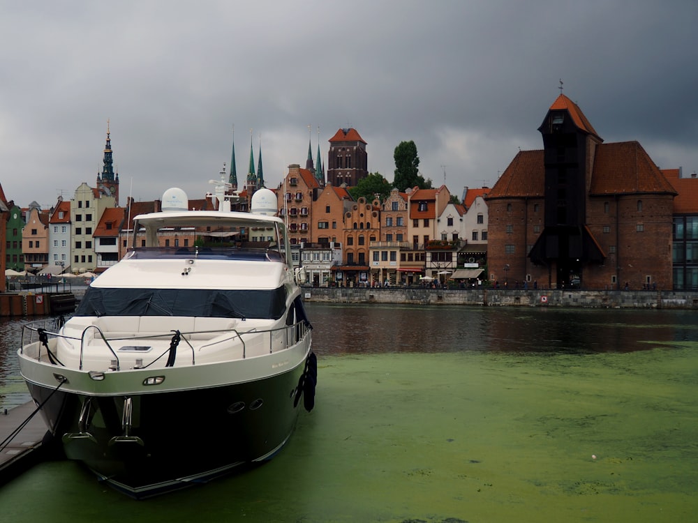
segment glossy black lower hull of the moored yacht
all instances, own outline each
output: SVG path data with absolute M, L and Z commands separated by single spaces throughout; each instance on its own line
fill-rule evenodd
M 143 498 L 272 457 L 295 427 L 305 363 L 251 381 L 161 393 L 28 386 L 66 457 Z

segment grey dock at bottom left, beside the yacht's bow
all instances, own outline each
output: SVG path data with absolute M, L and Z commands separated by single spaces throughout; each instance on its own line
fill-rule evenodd
M 7 412 L 0 413 L 0 442 L 12 434 L 27 420 L 36 406 L 27 402 Z M 39 413 L 36 413 L 22 430 L 4 448 L 0 449 L 0 485 L 7 483 L 32 465 L 43 460 L 47 454 L 50 434 Z

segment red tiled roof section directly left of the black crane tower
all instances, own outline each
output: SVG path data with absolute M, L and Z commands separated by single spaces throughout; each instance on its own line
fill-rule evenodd
M 543 150 L 519 151 L 487 197 L 542 197 L 544 180 Z

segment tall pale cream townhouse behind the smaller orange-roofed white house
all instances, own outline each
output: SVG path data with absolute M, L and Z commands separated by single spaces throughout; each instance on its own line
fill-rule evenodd
M 73 222 L 73 240 L 70 245 L 70 266 L 73 273 L 94 271 L 97 255 L 94 250 L 94 231 L 108 207 L 114 207 L 114 196 L 82 182 L 70 199 L 70 221 Z

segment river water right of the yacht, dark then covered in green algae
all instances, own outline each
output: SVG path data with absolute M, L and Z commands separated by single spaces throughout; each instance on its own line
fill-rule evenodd
M 3 521 L 674 522 L 698 509 L 695 313 L 309 314 L 315 409 L 274 460 L 140 502 L 46 462 L 1 487 Z

